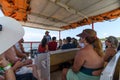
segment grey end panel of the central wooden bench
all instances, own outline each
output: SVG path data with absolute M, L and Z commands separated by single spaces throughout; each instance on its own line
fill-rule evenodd
M 50 55 L 49 53 L 40 53 L 35 57 L 37 71 L 39 71 L 40 80 L 50 80 Z

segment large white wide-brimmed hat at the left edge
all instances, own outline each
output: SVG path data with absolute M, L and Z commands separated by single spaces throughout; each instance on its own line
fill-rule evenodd
M 10 17 L 0 17 L 0 54 L 16 44 L 24 35 L 21 24 Z

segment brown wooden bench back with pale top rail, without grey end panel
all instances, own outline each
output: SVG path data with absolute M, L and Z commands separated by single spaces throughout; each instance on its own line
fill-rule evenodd
M 57 70 L 61 63 L 73 60 L 79 49 L 80 48 L 50 51 L 50 71 Z

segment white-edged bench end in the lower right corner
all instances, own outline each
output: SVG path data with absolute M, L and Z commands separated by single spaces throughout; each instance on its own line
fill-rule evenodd
M 120 80 L 120 51 L 112 58 L 103 70 L 100 80 Z

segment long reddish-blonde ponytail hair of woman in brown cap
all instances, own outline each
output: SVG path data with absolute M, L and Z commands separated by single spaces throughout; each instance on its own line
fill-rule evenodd
M 98 53 L 99 56 L 103 56 L 103 49 L 102 49 L 102 43 L 99 38 L 97 38 L 96 31 L 92 29 L 85 29 L 84 32 L 87 33 L 87 36 L 85 37 L 86 41 L 89 44 L 92 44 L 94 47 L 94 50 Z

